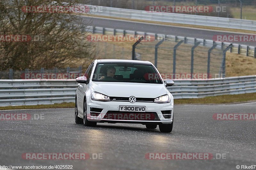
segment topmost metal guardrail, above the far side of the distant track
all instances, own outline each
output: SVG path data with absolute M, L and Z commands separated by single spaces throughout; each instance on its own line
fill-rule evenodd
M 90 8 L 98 7 L 93 5 L 87 5 Z M 213 26 L 220 28 L 233 28 L 241 30 L 251 30 L 256 31 L 256 21 L 247 19 L 235 19 L 235 18 L 222 18 L 222 17 L 211 17 L 202 15 L 188 15 L 179 13 L 167 13 L 167 12 L 149 12 L 142 10 L 132 10 L 123 8 L 113 8 L 113 7 L 101 7 L 102 11 L 93 12 L 91 10 L 88 14 L 108 16 L 108 17 L 118 17 L 118 18 L 128 18 L 146 21 L 157 21 L 157 22 L 167 22 L 176 24 L 188 24 L 188 25 L 198 25 L 198 26 Z

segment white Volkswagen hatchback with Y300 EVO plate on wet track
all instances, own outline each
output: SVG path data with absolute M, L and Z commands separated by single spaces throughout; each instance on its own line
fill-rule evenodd
M 148 61 L 95 60 L 76 78 L 75 122 L 139 123 L 161 132 L 173 126 L 173 96 L 156 67 Z

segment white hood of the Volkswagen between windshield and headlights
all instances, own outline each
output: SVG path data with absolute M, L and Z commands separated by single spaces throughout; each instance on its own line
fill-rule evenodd
M 157 98 L 167 94 L 164 84 L 92 82 L 92 88 L 111 97 Z

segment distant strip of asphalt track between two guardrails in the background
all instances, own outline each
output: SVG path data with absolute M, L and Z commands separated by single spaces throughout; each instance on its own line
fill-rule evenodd
M 156 25 L 153 23 L 135 22 L 127 21 L 121 19 L 110 19 L 110 18 L 100 18 L 100 17 L 81 17 L 84 22 L 92 26 L 100 26 L 106 28 L 116 28 L 125 29 L 133 31 L 142 31 L 149 33 L 162 33 L 177 36 L 185 36 L 192 38 L 201 38 L 212 40 L 214 35 L 248 35 L 249 33 L 235 33 L 229 31 L 216 31 L 210 29 L 200 29 L 192 27 L 182 27 L 182 26 L 170 26 L 170 25 Z M 254 34 L 253 34 L 254 35 Z M 237 44 L 244 44 L 250 46 L 256 46 L 256 41 L 253 42 L 233 42 Z

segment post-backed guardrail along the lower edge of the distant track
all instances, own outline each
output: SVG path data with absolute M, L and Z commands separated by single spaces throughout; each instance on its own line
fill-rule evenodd
M 156 37 L 156 40 L 174 40 L 174 41 L 184 41 L 187 44 L 195 45 L 197 42 L 201 42 L 199 46 L 205 46 L 205 47 L 212 47 L 214 44 L 217 44 L 217 49 L 225 49 L 227 48 L 230 43 L 228 42 L 215 42 L 213 40 L 207 40 L 207 39 L 200 39 L 200 38 L 192 38 L 192 37 L 183 37 L 183 36 L 176 36 L 176 35 L 166 35 L 166 34 L 159 34 L 159 33 L 147 33 L 147 32 L 141 32 L 141 31 L 132 31 L 132 30 L 123 30 L 123 29 L 114 29 L 114 28 L 104 28 L 99 26 L 87 26 L 84 29 L 85 32 L 91 32 L 91 33 L 100 33 L 100 34 L 112 34 L 112 35 L 126 35 L 126 34 L 132 34 L 132 35 L 150 35 Z M 230 52 L 251 56 L 256 58 L 256 47 L 253 46 L 246 46 L 246 45 L 240 45 L 236 43 L 232 43 L 232 48 L 230 49 Z

